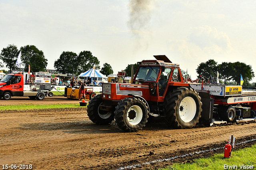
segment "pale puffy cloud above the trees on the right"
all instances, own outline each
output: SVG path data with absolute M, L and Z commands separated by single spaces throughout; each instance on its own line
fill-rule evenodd
M 228 53 L 232 50 L 228 35 L 218 32 L 216 28 L 202 26 L 192 28 L 193 32 L 188 36 L 188 42 L 194 43 L 206 53 Z

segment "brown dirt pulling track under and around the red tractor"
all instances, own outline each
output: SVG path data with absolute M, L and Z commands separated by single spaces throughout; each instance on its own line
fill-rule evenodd
M 64 97 L 46 97 L 43 102 L 13 97 L 0 99 L 0 107 L 78 102 Z M 85 108 L 4 111 L 0 114 L 0 165 L 32 164 L 38 170 L 117 169 L 224 146 L 231 134 L 238 141 L 255 138 L 256 123 L 180 130 L 147 123 L 143 130 L 125 133 L 114 122 L 92 123 Z M 169 164 L 164 161 L 142 169 Z

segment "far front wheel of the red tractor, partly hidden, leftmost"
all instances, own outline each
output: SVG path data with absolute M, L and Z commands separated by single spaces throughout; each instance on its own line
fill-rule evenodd
M 98 125 L 106 125 L 114 121 L 114 114 L 108 111 L 100 110 L 101 103 L 101 95 L 94 96 L 88 103 L 87 115 L 93 123 Z

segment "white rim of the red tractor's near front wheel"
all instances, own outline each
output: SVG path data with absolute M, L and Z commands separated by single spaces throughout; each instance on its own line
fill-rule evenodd
M 134 105 L 128 109 L 126 117 L 131 125 L 138 125 L 142 120 L 142 115 L 142 109 Z

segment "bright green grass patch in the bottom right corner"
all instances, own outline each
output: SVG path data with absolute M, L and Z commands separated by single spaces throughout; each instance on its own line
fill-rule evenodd
M 192 164 L 173 164 L 169 168 L 158 170 L 223 170 L 223 169 L 256 169 L 256 145 L 232 152 L 231 158 L 216 154 L 209 158 L 194 160 Z

